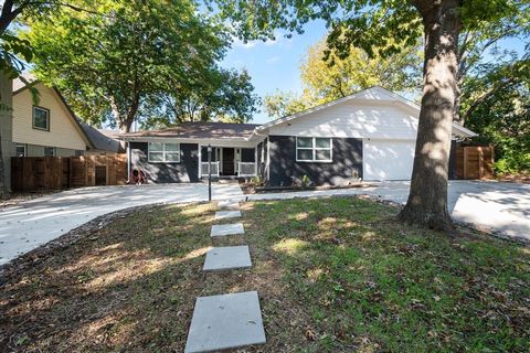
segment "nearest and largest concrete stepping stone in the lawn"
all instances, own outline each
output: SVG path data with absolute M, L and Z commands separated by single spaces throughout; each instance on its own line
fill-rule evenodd
M 186 353 L 266 342 L 256 291 L 197 298 Z

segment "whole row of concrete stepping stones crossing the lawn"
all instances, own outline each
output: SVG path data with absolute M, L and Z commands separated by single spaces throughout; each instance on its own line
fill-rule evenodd
M 241 217 L 240 204 L 223 201 L 215 220 Z M 230 211 L 226 211 L 230 210 Z M 244 234 L 242 223 L 214 224 L 211 237 Z M 214 247 L 206 253 L 203 270 L 230 270 L 252 267 L 247 245 Z M 235 349 L 266 342 L 259 298 L 256 291 L 199 297 L 191 319 L 186 353 Z

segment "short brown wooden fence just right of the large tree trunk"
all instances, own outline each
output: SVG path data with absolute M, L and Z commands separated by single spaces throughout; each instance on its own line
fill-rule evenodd
M 456 148 L 457 179 L 492 179 L 494 147 L 460 146 Z

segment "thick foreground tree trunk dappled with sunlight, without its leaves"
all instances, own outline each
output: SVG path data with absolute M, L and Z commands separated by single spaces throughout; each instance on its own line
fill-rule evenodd
M 447 210 L 447 179 L 458 85 L 458 0 L 416 1 L 416 7 L 425 32 L 424 89 L 411 192 L 400 218 L 449 232 L 454 228 Z

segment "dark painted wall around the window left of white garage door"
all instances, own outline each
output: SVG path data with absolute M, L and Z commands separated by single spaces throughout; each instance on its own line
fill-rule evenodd
M 297 162 L 296 138 L 269 136 L 272 186 L 288 186 L 308 175 L 317 185 L 343 184 L 362 178 L 362 139 L 333 138 L 332 162 Z

